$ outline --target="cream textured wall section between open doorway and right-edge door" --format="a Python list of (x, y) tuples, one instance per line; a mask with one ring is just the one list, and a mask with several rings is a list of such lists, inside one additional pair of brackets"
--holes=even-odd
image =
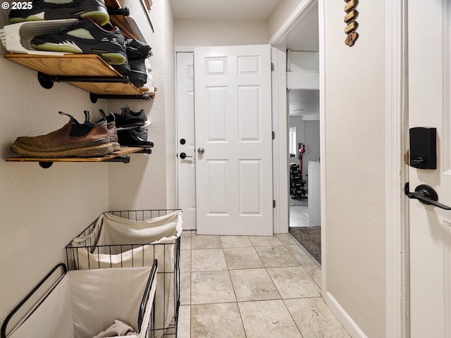
[(343, 2), (323, 6), (327, 290), (367, 337), (385, 337), (385, 2), (359, 2), (352, 47)]

